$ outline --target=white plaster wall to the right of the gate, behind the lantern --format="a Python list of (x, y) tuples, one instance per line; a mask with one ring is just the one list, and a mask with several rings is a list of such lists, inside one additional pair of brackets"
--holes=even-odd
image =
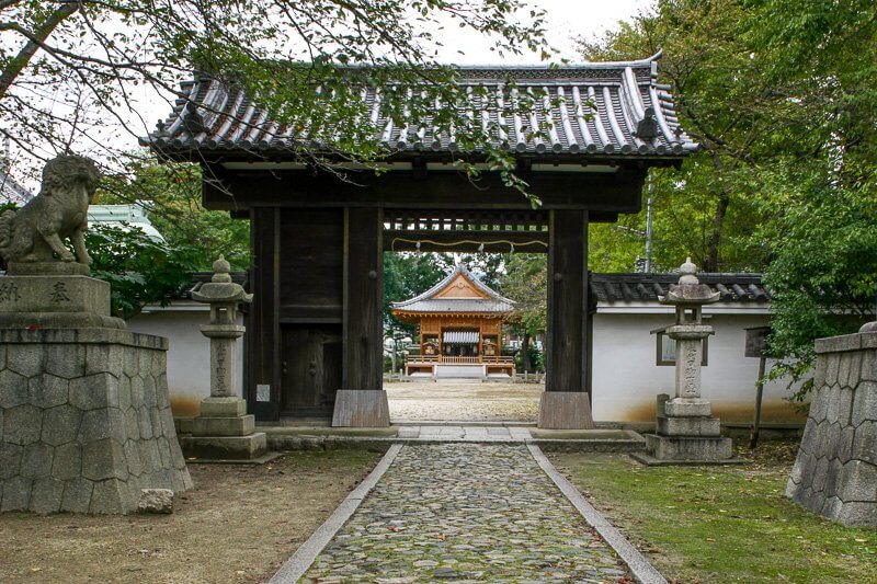
[[(653, 422), (656, 396), (674, 394), (674, 367), (656, 364), (657, 339), (649, 331), (672, 324), (672, 308), (649, 308), (594, 316), (593, 412), (601, 422)], [(725, 313), (716, 313), (725, 312)], [(730, 312), (730, 313), (728, 313)], [(765, 327), (767, 313), (745, 313), (732, 308), (705, 308), (706, 322), (715, 328), (708, 342), (708, 362), (703, 368), (704, 397), (713, 402), (714, 415), (724, 422), (750, 422), (754, 412), (759, 359), (743, 356), (745, 330)], [(771, 362), (767, 362), (770, 369)], [(785, 381), (764, 388), (762, 421), (804, 420), (785, 400)]]

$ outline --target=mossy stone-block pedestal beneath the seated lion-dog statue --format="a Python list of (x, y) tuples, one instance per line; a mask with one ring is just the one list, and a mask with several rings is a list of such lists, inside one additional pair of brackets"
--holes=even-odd
[(192, 488), (168, 341), (130, 333), (109, 311), (104, 282), (0, 277), (2, 511), (124, 514), (143, 489)]

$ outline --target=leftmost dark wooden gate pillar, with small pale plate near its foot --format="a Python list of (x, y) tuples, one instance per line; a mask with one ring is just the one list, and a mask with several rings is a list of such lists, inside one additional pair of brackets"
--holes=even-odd
[(246, 334), (244, 397), (248, 411), (255, 414), (257, 420), (280, 419), (280, 222), (281, 214), (276, 208), (253, 208), (250, 211), (253, 304)]

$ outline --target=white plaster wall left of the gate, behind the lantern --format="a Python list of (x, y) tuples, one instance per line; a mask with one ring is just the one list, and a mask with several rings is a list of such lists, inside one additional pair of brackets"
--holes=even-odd
[[(209, 310), (196, 302), (175, 302), (166, 308), (147, 307), (128, 320), (133, 332), (168, 337), (168, 388), (174, 415), (197, 415), (201, 400), (210, 394), (210, 345), (200, 325), (209, 320)], [(243, 319), (238, 314), (238, 324)], [(243, 386), (243, 341), (235, 352), (235, 391)]]

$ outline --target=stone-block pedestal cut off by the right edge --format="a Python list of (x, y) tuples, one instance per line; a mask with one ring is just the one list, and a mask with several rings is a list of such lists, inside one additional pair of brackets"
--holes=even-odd
[(877, 528), (877, 325), (816, 343), (810, 413), (786, 496)]

